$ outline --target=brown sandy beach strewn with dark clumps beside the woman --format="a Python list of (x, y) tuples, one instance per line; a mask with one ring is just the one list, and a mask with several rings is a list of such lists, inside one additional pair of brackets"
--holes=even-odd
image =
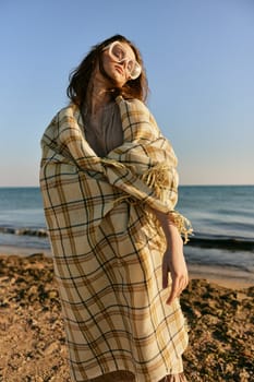
[[(33, 249), (0, 251), (0, 381), (70, 382), (52, 260)], [(253, 381), (253, 280), (193, 264), (189, 270), (181, 296), (190, 329), (188, 380)]]

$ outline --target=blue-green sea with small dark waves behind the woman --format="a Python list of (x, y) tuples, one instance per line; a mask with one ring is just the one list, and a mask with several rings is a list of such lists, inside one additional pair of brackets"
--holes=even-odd
[[(177, 210), (193, 225), (190, 264), (254, 272), (254, 186), (182, 186)], [(50, 251), (39, 188), (0, 188), (1, 247)]]

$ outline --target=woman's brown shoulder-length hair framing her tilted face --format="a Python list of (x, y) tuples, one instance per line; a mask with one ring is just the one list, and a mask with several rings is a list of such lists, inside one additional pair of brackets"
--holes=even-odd
[(121, 94), (124, 98), (137, 98), (143, 102), (146, 100), (148, 93), (148, 83), (145, 74), (145, 69), (143, 67), (141, 52), (124, 36), (114, 35), (92, 47), (90, 51), (83, 59), (80, 65), (71, 72), (69, 77), (70, 84), (66, 88), (66, 95), (77, 106), (82, 106), (84, 103), (86, 103), (93, 72), (97, 63), (100, 63), (104, 48), (113, 41), (121, 41), (130, 45), (135, 53), (137, 62), (142, 65), (142, 73), (136, 80), (129, 80), (121, 88), (113, 87), (111, 89), (112, 96), (116, 97), (117, 95)]

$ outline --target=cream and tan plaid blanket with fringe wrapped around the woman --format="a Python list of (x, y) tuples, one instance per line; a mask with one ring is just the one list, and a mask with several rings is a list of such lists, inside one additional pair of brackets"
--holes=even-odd
[(157, 382), (182, 371), (188, 344), (179, 301), (165, 303), (166, 239), (152, 213), (173, 212), (177, 158), (143, 103), (117, 103), (123, 144), (105, 158), (76, 106), (57, 114), (41, 140), (40, 188), (73, 381), (129, 370)]

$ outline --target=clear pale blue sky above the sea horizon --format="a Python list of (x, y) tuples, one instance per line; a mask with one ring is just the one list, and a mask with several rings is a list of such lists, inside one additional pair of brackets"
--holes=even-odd
[(1, 0), (0, 186), (38, 186), (69, 73), (116, 33), (142, 51), (180, 183), (254, 184), (253, 0)]

